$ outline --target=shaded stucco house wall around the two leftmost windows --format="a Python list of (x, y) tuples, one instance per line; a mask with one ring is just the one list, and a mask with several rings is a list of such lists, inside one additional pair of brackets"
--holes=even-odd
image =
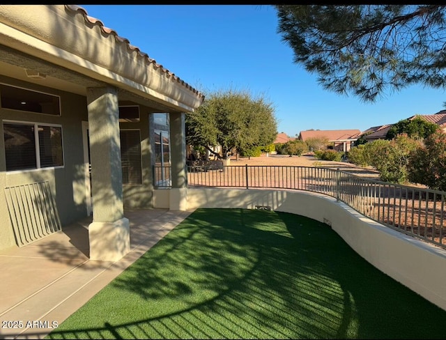
[[(27, 111), (0, 108), (0, 249), (15, 245), (13, 228), (10, 223), (5, 188), (30, 183), (48, 181), (56, 201), (61, 224), (70, 224), (86, 216), (86, 190), (84, 172), (84, 153), (82, 144), (82, 121), (87, 120), (86, 98), (37, 84), (22, 82), (3, 77), (0, 82), (20, 86), (30, 90), (59, 95), (61, 115), (52, 116)], [(5, 146), (3, 139), (3, 121), (23, 121), (33, 123), (57, 124), (62, 127), (63, 167), (6, 171)], [(4, 218), (3, 218), (4, 217)]]

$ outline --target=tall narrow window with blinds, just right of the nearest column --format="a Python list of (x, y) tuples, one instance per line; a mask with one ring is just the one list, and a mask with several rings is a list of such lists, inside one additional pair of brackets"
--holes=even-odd
[(123, 184), (141, 185), (141, 136), (139, 130), (121, 130)]

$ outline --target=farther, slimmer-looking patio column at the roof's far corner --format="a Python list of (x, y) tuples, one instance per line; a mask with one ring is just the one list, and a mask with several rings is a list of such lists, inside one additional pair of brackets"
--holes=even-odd
[(169, 113), (171, 143), (170, 210), (187, 210), (185, 113)]

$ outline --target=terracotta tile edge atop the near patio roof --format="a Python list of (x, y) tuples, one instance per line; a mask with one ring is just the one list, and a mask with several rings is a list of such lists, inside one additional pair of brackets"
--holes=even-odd
[(88, 23), (90, 25), (93, 24), (93, 25), (100, 26), (101, 31), (103, 33), (105, 33), (107, 36), (113, 35), (114, 38), (118, 42), (125, 42), (129, 52), (137, 52), (139, 54), (139, 56), (145, 57), (147, 63), (152, 63), (154, 68), (161, 68), (162, 72), (166, 73), (167, 77), (172, 77), (172, 79), (174, 79), (176, 82), (189, 88), (192, 92), (197, 93), (197, 95), (199, 95), (200, 97), (204, 97), (203, 93), (200, 93), (199, 91), (197, 91), (197, 89), (193, 88), (192, 86), (190, 86), (189, 84), (184, 82), (182, 79), (177, 77), (173, 72), (170, 72), (166, 68), (163, 68), (162, 65), (160, 65), (159, 63), (157, 63), (155, 61), (155, 59), (152, 59), (151, 57), (148, 56), (148, 54), (141, 52), (141, 50), (138, 47), (131, 45), (130, 41), (127, 38), (118, 36), (118, 33), (116, 31), (114, 31), (114, 29), (109, 29), (108, 27), (104, 26), (102, 21), (100, 21), (99, 19), (89, 16), (89, 14), (85, 10), (85, 8), (82, 8), (81, 6), (77, 6), (77, 5), (65, 5), (65, 8), (72, 13), (74, 13), (74, 12), (82, 13), (84, 15), (84, 19), (85, 19), (86, 23)]

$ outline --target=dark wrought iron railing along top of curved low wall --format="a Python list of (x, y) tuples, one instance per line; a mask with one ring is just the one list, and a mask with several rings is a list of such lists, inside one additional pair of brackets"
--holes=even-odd
[[(170, 167), (153, 169), (155, 187), (170, 187)], [(164, 176), (164, 180), (160, 177)], [(339, 169), (291, 166), (187, 167), (190, 187), (305, 190), (326, 194), (394, 230), (446, 249), (446, 192), (363, 178)]]

